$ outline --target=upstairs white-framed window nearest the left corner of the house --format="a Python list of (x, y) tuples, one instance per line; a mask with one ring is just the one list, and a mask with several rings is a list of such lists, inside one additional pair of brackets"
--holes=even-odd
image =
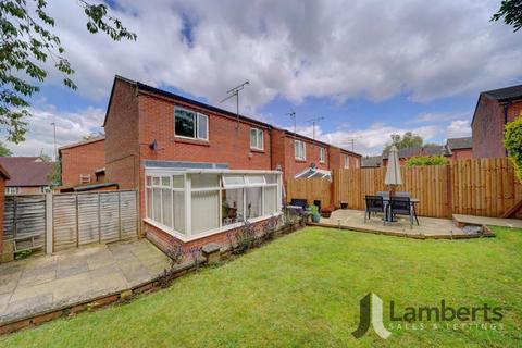
[(178, 137), (209, 139), (209, 116), (191, 110), (174, 109), (174, 127)]

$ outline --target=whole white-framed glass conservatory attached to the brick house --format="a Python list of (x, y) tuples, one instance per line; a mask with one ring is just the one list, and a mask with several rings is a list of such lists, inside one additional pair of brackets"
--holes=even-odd
[(146, 222), (188, 241), (282, 211), (279, 171), (147, 167)]

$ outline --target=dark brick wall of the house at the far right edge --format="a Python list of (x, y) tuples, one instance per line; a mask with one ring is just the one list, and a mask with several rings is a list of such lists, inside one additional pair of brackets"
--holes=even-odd
[[(482, 96), (472, 124), (473, 158), (506, 157), (504, 147), (505, 111), (496, 100)], [(508, 122), (522, 111), (522, 101), (508, 105)]]

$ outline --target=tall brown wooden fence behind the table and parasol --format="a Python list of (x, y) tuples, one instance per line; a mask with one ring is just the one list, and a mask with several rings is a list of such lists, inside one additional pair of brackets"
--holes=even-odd
[[(307, 198), (309, 202), (320, 199), (323, 207), (338, 207), (343, 201), (349, 209), (362, 210), (365, 195), (387, 190), (385, 173), (385, 167), (348, 169), (334, 170), (332, 183), (326, 179), (289, 179), (287, 198)], [(401, 174), (403, 185), (397, 190), (409, 191), (418, 198), (417, 212), (423, 216), (501, 216), (522, 199), (522, 184), (507, 158), (401, 167)], [(522, 212), (517, 216), (522, 217)]]

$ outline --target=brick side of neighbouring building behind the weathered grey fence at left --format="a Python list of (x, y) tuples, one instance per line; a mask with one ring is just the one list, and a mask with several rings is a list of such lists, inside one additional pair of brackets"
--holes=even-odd
[(62, 186), (104, 182), (104, 137), (63, 146), (58, 149), (58, 153), (62, 163)]

